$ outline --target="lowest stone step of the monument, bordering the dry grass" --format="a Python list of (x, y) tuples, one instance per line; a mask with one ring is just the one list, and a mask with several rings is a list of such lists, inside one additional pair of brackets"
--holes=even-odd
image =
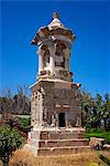
[(72, 155), (90, 151), (90, 146), (66, 146), (66, 147), (41, 147), (37, 151), (38, 156), (56, 156), (56, 155)]

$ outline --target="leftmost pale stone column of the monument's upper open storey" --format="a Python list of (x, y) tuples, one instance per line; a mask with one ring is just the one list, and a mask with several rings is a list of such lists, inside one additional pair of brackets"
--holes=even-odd
[(44, 66), (43, 66), (43, 56), (44, 56), (44, 50), (38, 49), (37, 53), (38, 53), (38, 74), (41, 74), (41, 71), (43, 71)]

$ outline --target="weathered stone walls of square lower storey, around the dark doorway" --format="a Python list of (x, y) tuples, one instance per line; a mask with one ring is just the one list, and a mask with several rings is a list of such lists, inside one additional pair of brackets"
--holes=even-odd
[(32, 87), (32, 125), (57, 126), (65, 113), (67, 126), (81, 125), (78, 89), (70, 82), (41, 81)]

